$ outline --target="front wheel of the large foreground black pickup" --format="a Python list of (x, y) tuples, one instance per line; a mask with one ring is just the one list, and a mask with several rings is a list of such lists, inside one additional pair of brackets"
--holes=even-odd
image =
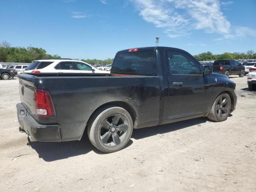
[(207, 118), (216, 122), (225, 121), (230, 114), (230, 110), (230, 96), (226, 93), (220, 94), (212, 104), (212, 108), (210, 109)]

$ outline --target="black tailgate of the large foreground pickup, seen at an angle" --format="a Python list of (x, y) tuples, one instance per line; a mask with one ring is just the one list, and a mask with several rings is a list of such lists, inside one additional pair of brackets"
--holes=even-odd
[(28, 75), (28, 74), (19, 74), (20, 101), (31, 115), (35, 114), (35, 108), (34, 108), (35, 86), (36, 86), (35, 76)]

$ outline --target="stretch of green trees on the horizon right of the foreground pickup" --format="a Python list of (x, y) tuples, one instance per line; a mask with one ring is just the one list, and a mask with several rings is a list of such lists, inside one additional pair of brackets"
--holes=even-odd
[(256, 59), (256, 52), (250, 50), (246, 53), (229, 53), (225, 52), (223, 54), (212, 54), (212, 52), (204, 52), (194, 56), (198, 61), (212, 61), (212, 60), (222, 60), (222, 59)]

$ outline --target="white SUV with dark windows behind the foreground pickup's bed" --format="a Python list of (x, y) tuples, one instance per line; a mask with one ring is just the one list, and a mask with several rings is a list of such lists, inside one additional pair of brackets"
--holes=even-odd
[(36, 60), (24, 73), (109, 73), (101, 71), (86, 62), (71, 59)]

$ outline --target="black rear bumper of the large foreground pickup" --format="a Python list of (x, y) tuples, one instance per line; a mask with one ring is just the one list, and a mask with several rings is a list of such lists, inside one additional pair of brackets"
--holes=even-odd
[(20, 128), (31, 141), (60, 142), (60, 126), (39, 124), (21, 103), (16, 105)]

